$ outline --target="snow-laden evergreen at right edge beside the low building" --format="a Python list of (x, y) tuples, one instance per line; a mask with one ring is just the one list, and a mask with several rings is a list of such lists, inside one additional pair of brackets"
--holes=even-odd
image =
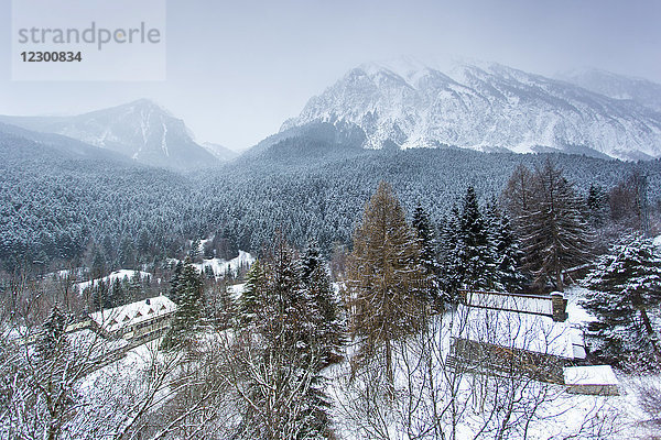
[(588, 327), (594, 353), (619, 364), (661, 369), (661, 254), (652, 240), (633, 235), (597, 260), (584, 284), (583, 306), (598, 319)]

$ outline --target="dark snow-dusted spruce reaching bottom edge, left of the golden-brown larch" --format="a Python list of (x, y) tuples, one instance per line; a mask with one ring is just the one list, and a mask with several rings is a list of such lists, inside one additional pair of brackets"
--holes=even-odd
[[(314, 284), (323, 267), (310, 274)], [(269, 264), (253, 265), (249, 273), (249, 296), (242, 302), (252, 326), (240, 328), (245, 338), (259, 344), (245, 385), (246, 431), (253, 438), (326, 438), (329, 400), (325, 395), (325, 349), (322, 323), (314, 295), (306, 293), (302, 264), (295, 251), (279, 237)], [(297, 432), (289, 437), (284, 432)]]

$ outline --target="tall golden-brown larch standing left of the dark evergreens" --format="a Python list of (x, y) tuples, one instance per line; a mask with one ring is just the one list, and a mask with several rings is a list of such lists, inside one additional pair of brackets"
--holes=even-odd
[(388, 184), (381, 182), (354, 233), (347, 288), (353, 311), (350, 334), (360, 338), (353, 359), (360, 366), (382, 350), (386, 377), (393, 391), (392, 341), (422, 324), (414, 294), (425, 280), (415, 233)]

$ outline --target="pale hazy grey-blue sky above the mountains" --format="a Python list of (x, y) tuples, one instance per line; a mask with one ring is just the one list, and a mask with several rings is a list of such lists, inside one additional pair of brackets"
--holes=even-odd
[(661, 82), (657, 0), (171, 0), (167, 80), (154, 82), (11, 81), (10, 1), (0, 2), (0, 113), (72, 114), (150, 98), (198, 142), (236, 150), (278, 131), (351, 67), (401, 55), (545, 75), (592, 66)]

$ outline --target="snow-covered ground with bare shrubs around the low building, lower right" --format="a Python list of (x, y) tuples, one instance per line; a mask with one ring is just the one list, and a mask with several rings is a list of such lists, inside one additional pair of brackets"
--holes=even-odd
[[(587, 322), (595, 320), (579, 304), (586, 293), (587, 289), (583, 287), (573, 287), (565, 293), (568, 299), (568, 319), (563, 322), (564, 330), (579, 331)], [(479, 326), (475, 321), (476, 317), (479, 317), (474, 315), (466, 317), (468, 326), (459, 326), (459, 328), (462, 331), (470, 332), (470, 327)], [(453, 319), (456, 319), (456, 316), (444, 317), (445, 321)], [(494, 328), (491, 323), (487, 327)], [(326, 370), (325, 376), (328, 378), (326, 391), (334, 404), (332, 414), (338, 438), (362, 439), (366, 436), (390, 439), (412, 438), (412, 433), (430, 428), (432, 420), (438, 417), (434, 415), (433, 402), (438, 403), (436, 409), (449, 410), (447, 405), (453, 394), (457, 409), (454, 438), (473, 439), (483, 429), (478, 438), (495, 437), (495, 429), (498, 429), (502, 418), (499, 418), (501, 414), (492, 411), (494, 400), (490, 399), (494, 389), (490, 391), (491, 397), (485, 393), (488, 388), (488, 385), (485, 385), (488, 383), (485, 381), (486, 375), (466, 373), (458, 378), (458, 382), (453, 383), (452, 375), (447, 374), (452, 369), (445, 364), (444, 359), (449, 352), (449, 341), (453, 332), (456, 331), (456, 322), (449, 326), (447, 322), (433, 324), (433, 331), (435, 336), (431, 340), (435, 341), (436, 345), (422, 344), (420, 337), (415, 336), (407, 343), (393, 346), (397, 397), (388, 405), (368, 407), (366, 397), (369, 396), (365, 393), (366, 387), (362, 386), (369, 381), (382, 385), (382, 382), (379, 382), (382, 377), (375, 380), (372, 376), (361, 380), (357, 376), (357, 380), (351, 382), (349, 381), (351, 365), (346, 361)], [(489, 338), (489, 334), (485, 337)], [(513, 338), (512, 342), (516, 345), (517, 338)], [(349, 345), (347, 358), (350, 358), (355, 350), (355, 346)], [(431, 363), (420, 354), (425, 352), (431, 353)], [(430, 365), (432, 370), (429, 370)], [(539, 440), (652, 438), (650, 436), (654, 428), (644, 424), (649, 416), (642, 411), (638, 402), (638, 387), (641, 384), (657, 383), (660, 386), (658, 389), (661, 389), (661, 376), (632, 377), (622, 372), (615, 373), (619, 383), (620, 395), (618, 396), (570, 394), (565, 385), (538, 382), (528, 384), (527, 380), (521, 377), (520, 384), (513, 386), (510, 384), (511, 388), (507, 388), (510, 392), (513, 389), (514, 393), (513, 418), (524, 417), (525, 411), (533, 408), (537, 415), (529, 425), (512, 429), (506, 438)], [(615, 382), (611, 376), (609, 381), (609, 383)], [(430, 385), (432, 383), (433, 386)], [(503, 395), (508, 391), (500, 388), (500, 394)], [(490, 417), (494, 418), (489, 419)], [(444, 435), (447, 436), (446, 438), (452, 438), (452, 418), (448, 418), (445, 413), (442, 420)], [(437, 437), (427, 431), (427, 435), (415, 438)]]

